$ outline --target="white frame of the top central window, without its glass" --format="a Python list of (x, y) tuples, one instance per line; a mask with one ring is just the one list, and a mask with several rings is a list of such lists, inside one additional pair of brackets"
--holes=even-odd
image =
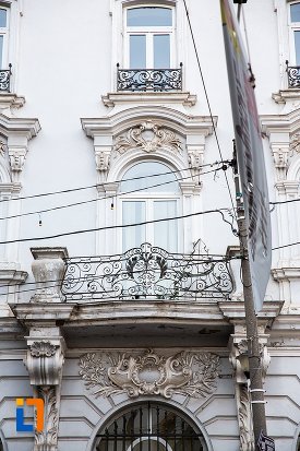
[[(127, 15), (128, 11), (136, 8), (164, 8), (171, 10), (172, 12), (172, 26), (128, 26)], [(176, 68), (176, 39), (175, 39), (175, 8), (168, 4), (153, 4), (153, 3), (140, 3), (133, 7), (124, 8), (123, 14), (123, 29), (124, 29), (124, 68), (130, 68), (130, 36), (145, 35), (146, 36), (146, 69), (154, 69), (154, 35), (168, 35), (170, 36), (170, 68)], [(143, 69), (143, 68), (133, 68)]]

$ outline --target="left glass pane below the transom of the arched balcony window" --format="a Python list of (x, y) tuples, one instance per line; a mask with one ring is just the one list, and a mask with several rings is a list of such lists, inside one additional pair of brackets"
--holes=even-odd
[[(145, 202), (142, 201), (123, 201), (122, 202), (122, 224), (142, 223), (146, 221)], [(123, 232), (123, 251), (131, 248), (140, 247), (146, 240), (146, 226), (124, 227)]]

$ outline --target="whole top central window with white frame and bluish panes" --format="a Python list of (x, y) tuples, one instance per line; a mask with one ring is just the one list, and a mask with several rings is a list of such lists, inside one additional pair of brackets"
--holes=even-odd
[(142, 5), (125, 9), (125, 66), (169, 69), (173, 61), (173, 9)]

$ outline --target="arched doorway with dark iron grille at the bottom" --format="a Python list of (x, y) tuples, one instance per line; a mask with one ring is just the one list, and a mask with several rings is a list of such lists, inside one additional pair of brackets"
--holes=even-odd
[(147, 402), (116, 415), (97, 434), (94, 451), (207, 451), (207, 447), (177, 410)]

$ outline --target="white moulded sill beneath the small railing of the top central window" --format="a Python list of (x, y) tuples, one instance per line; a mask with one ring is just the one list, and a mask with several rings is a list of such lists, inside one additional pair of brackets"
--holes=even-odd
[[(299, 91), (300, 93), (300, 91)], [(161, 104), (181, 104), (183, 106), (194, 106), (196, 103), (196, 95), (189, 92), (119, 92), (108, 93), (101, 96), (103, 103), (106, 107), (115, 107), (128, 103), (161, 105)]]

